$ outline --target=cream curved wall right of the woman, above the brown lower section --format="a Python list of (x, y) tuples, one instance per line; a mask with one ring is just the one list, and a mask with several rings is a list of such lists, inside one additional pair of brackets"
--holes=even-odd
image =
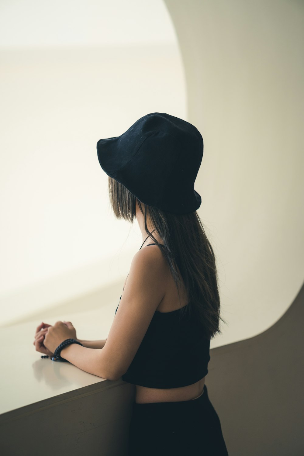
[(201, 131), (198, 213), (217, 256), (222, 337), (255, 336), (304, 278), (304, 3), (165, 0)]

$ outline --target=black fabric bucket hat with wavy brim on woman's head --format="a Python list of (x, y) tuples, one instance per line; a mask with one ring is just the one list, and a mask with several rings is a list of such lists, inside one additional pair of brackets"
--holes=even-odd
[(201, 206), (194, 181), (204, 143), (196, 127), (166, 113), (138, 119), (120, 136), (97, 143), (100, 166), (139, 201), (186, 214)]

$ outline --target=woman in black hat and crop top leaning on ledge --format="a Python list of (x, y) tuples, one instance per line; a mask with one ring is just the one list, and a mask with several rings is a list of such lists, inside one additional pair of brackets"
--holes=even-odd
[[(122, 376), (136, 385), (130, 456), (227, 455), (205, 385), (210, 340), (221, 334), (222, 318), (215, 256), (196, 212), (201, 134), (185, 120), (152, 113), (123, 135), (99, 140), (97, 150), (113, 212), (131, 223), (136, 218), (143, 243), (108, 338), (80, 342), (103, 348), (103, 378)], [(83, 369), (77, 358), (83, 349), (72, 345), (78, 341), (75, 328), (70, 322), (56, 325), (38, 326), (36, 349), (52, 354), (72, 338), (61, 357)]]

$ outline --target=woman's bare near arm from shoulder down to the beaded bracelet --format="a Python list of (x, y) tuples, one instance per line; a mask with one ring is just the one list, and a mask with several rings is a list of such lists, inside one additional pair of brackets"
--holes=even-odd
[[(106, 380), (119, 380), (132, 363), (165, 295), (167, 272), (166, 260), (159, 249), (137, 252), (108, 338), (82, 341), (87, 347), (70, 344), (62, 348), (60, 356), (85, 372)], [(103, 342), (103, 348), (88, 347), (92, 343), (101, 346)]]

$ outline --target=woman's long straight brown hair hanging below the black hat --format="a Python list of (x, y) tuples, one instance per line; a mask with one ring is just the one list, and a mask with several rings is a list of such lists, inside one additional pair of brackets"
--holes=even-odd
[(174, 214), (164, 212), (140, 202), (123, 184), (108, 176), (110, 203), (116, 218), (123, 218), (133, 223), (136, 218), (136, 202), (144, 215), (146, 233), (159, 245), (147, 227), (147, 218), (163, 240), (159, 245), (164, 254), (175, 281), (178, 294), (181, 284), (176, 264), (180, 269), (189, 303), (180, 309), (180, 318), (193, 312), (201, 322), (206, 337), (212, 339), (222, 334), (219, 323), (220, 296), (216, 260), (211, 244), (206, 236), (197, 212)]

